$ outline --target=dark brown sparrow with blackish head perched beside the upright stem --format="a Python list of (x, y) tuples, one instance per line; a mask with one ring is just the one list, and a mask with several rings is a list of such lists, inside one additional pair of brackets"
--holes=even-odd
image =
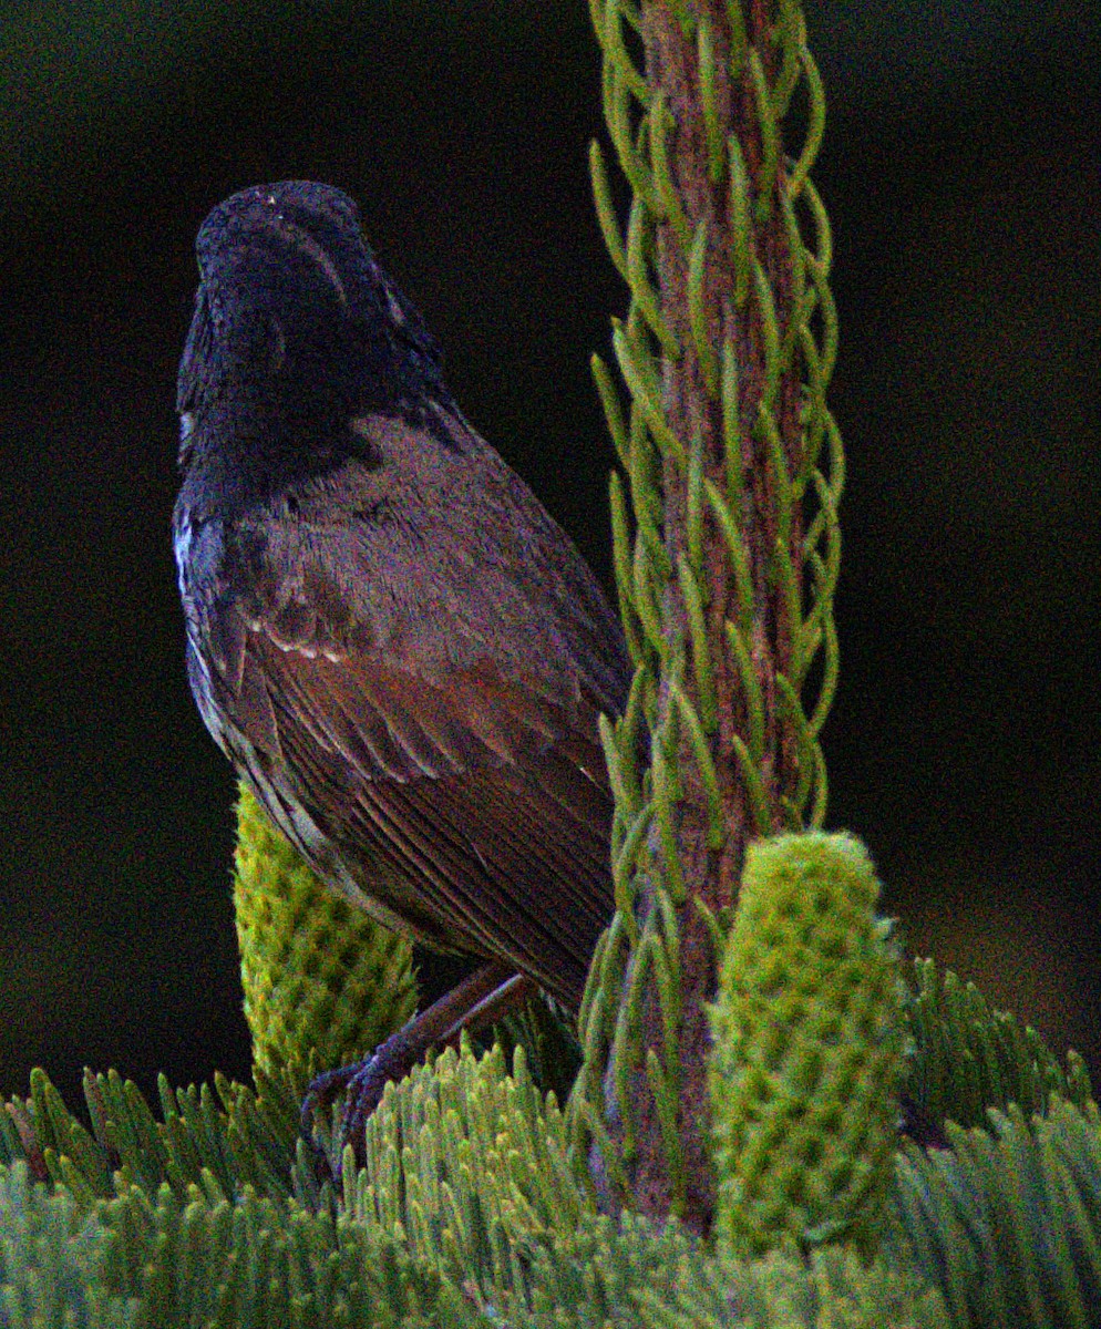
[(327, 882), (487, 962), (383, 1045), (370, 1111), (509, 979), (577, 1011), (613, 909), (597, 715), (628, 658), (344, 194), (243, 190), (197, 251), (174, 540), (202, 718)]

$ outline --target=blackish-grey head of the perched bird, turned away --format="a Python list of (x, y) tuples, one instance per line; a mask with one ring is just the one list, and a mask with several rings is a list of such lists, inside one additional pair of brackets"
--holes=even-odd
[(308, 397), (350, 413), (445, 399), (436, 343), (339, 189), (312, 181), (245, 189), (210, 213), (195, 250), (181, 413), (238, 393)]

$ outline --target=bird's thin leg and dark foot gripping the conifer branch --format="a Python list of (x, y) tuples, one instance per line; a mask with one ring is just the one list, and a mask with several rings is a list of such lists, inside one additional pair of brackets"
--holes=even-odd
[(521, 1006), (537, 990), (532, 978), (515, 973), (509, 965), (497, 961), (481, 965), (427, 1010), (414, 1015), (396, 1034), (391, 1034), (366, 1061), (324, 1071), (311, 1080), (302, 1103), (302, 1134), (315, 1143), (314, 1116), (318, 1108), (327, 1107), (338, 1094), (347, 1090), (339, 1152), (343, 1152), (346, 1144), (351, 1144), (356, 1162), (362, 1163), (367, 1118), (379, 1106), (390, 1080), (408, 1075), (429, 1047), (456, 1046), (464, 1030), (473, 1034), (485, 1029), (509, 1010)]

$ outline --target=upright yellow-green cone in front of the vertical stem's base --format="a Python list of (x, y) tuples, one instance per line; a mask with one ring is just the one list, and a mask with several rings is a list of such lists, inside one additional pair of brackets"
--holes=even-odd
[(879, 881), (848, 835), (751, 844), (711, 1007), (717, 1232), (876, 1245), (903, 1063), (903, 985)]

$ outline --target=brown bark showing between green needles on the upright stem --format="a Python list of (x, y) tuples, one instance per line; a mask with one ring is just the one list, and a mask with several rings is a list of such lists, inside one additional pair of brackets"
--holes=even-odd
[[(747, 64), (737, 81), (727, 76), (730, 52), (730, 25), (727, 0), (690, 0), (694, 17), (710, 24), (715, 43), (717, 86), (715, 101), (719, 122), (726, 133), (734, 133), (742, 146), (750, 190), (754, 201), (759, 193), (763, 167), (762, 130), (758, 105)], [(775, 76), (771, 27), (775, 5), (769, 0), (743, 0), (746, 35), (765, 65), (766, 81)], [(695, 33), (686, 33), (664, 0), (644, 0), (642, 37), (646, 53), (648, 82), (652, 92), (661, 89), (665, 105), (672, 112), (673, 128), (669, 134), (669, 158), (673, 178), (689, 225), (695, 231), (706, 222), (709, 249), (705, 266), (705, 311), (717, 351), (723, 342), (735, 350), (739, 380), (739, 417), (742, 436), (742, 508), (737, 513), (750, 562), (753, 581), (751, 606), (739, 606), (730, 558), (723, 538), (710, 516), (703, 530), (702, 586), (707, 635), (715, 670), (718, 694), (718, 727), (710, 736), (711, 758), (715, 764), (722, 800), (725, 837), (722, 848), (707, 844), (709, 812), (706, 792), (686, 735), (681, 736), (677, 754), (679, 797), (675, 808), (675, 843), (687, 900), (677, 910), (679, 937), (679, 1075), (677, 1127), (685, 1156), (683, 1220), (699, 1232), (707, 1232), (714, 1211), (714, 1174), (709, 1156), (709, 1100), (706, 1061), (710, 1043), (706, 1009), (714, 999), (717, 985), (717, 957), (710, 936), (695, 901), (706, 905), (713, 914), (730, 906), (737, 896), (745, 847), (755, 833), (751, 807), (739, 775), (733, 739), (747, 739), (747, 708), (737, 668), (730, 661), (725, 641), (725, 623), (735, 619), (739, 609), (750, 609), (753, 633), (753, 663), (765, 700), (766, 732), (765, 756), (761, 775), (771, 812), (773, 829), (783, 824), (781, 796), (790, 793), (796, 776), (796, 735), (782, 719), (777, 672), (790, 675), (793, 627), (787, 621), (779, 594), (774, 565), (777, 540), (781, 534), (777, 505), (775, 474), (769, 449), (759, 428), (758, 408), (765, 392), (766, 360), (761, 308), (757, 296), (739, 308), (734, 290), (734, 242), (729, 211), (729, 185), (717, 185), (709, 171), (707, 140), (699, 92), (699, 68)], [(783, 165), (775, 173), (771, 187), (771, 207), (767, 219), (753, 225), (753, 250), (773, 292), (781, 334), (793, 316), (791, 311), (791, 255), (781, 209), (781, 190), (785, 187)], [(726, 492), (726, 457), (722, 435), (721, 404), (706, 387), (703, 369), (694, 350), (689, 318), (687, 268), (689, 256), (672, 222), (658, 225), (657, 276), (661, 310), (675, 335), (682, 354), (678, 359), (665, 359), (664, 408), (665, 417), (677, 437), (687, 445), (697, 435), (702, 440), (703, 474), (719, 492)], [(753, 284), (751, 284), (753, 291)], [(782, 375), (773, 413), (786, 456), (789, 473), (798, 470), (800, 459), (799, 379), (793, 356)], [(683, 469), (666, 460), (662, 476), (665, 502), (666, 548), (677, 566), (686, 550), (687, 486)], [(799, 571), (802, 529), (798, 513), (793, 517), (789, 550)], [(670, 581), (662, 606), (666, 633), (687, 641), (687, 617), (677, 578)], [(690, 653), (689, 653), (690, 657)], [(699, 708), (699, 690), (691, 667), (683, 680), (689, 699)], [(658, 710), (669, 704), (670, 679), (660, 684)], [(658, 856), (657, 844), (653, 847)], [(657, 908), (653, 881), (642, 880), (637, 898), (640, 924)], [(636, 1208), (661, 1216), (673, 1204), (673, 1183), (669, 1176), (668, 1154), (662, 1140), (654, 1098), (646, 1082), (646, 1051), (665, 1053), (665, 1019), (650, 973), (642, 999), (642, 1049), (632, 1055), (633, 1075), (629, 1083), (630, 1111), (634, 1122), (634, 1154), (628, 1159), (629, 1179)], [(609, 1078), (609, 1088), (612, 1079)], [(614, 1094), (608, 1094), (614, 1102)], [(609, 1122), (613, 1140), (622, 1142), (622, 1127)]]

